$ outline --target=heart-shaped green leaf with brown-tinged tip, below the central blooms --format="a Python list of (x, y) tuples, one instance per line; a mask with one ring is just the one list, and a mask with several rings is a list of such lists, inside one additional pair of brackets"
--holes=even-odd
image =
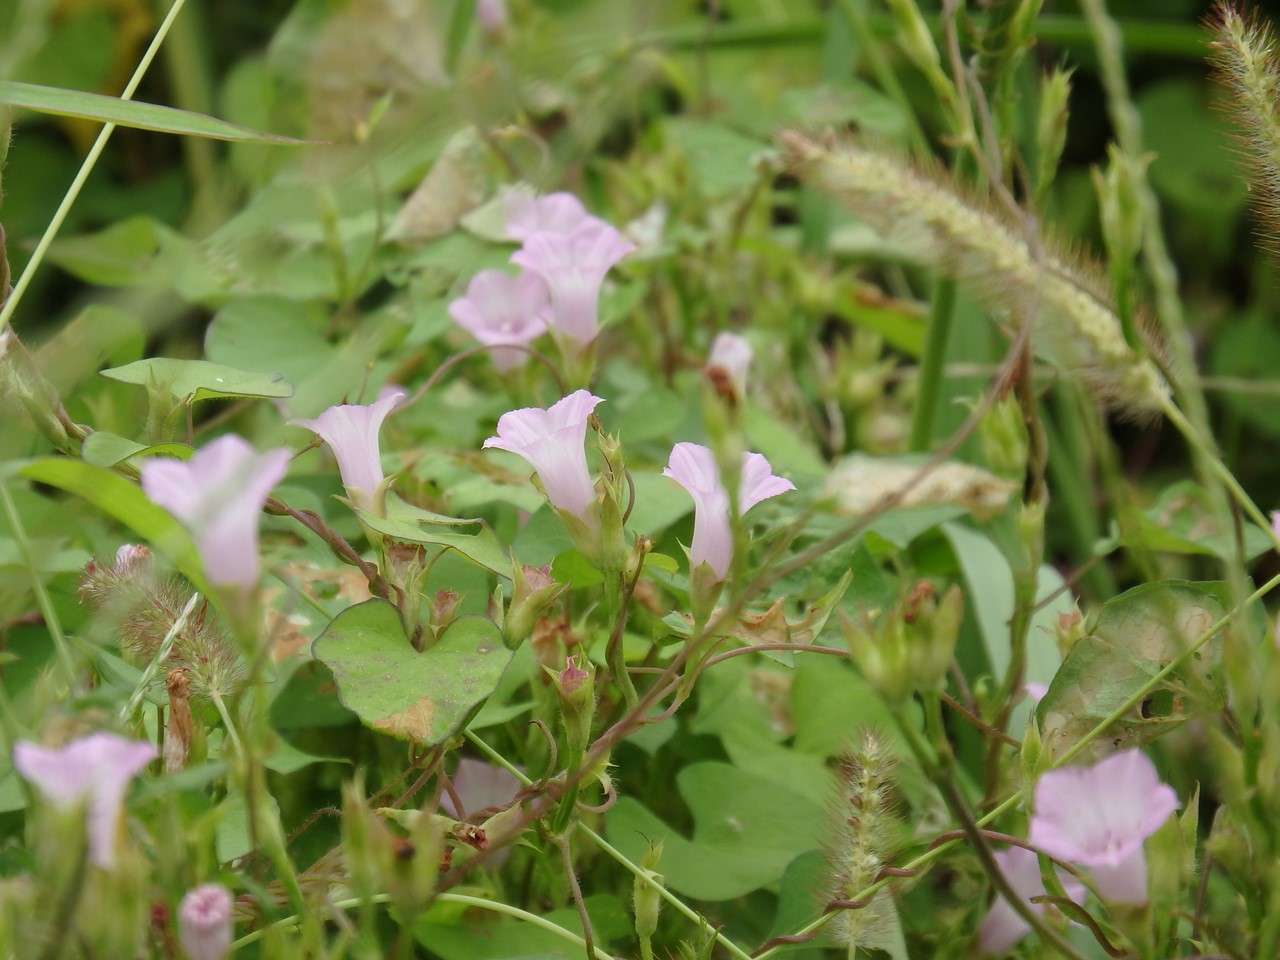
[(454, 621), (435, 646), (419, 653), (385, 600), (343, 611), (311, 649), (333, 671), (338, 699), (361, 723), (425, 745), (462, 728), (493, 694), (512, 655), (484, 617)]

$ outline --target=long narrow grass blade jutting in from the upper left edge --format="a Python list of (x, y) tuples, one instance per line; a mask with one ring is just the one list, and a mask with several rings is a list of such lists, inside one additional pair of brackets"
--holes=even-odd
[(210, 137), (212, 140), (236, 140), (247, 143), (314, 143), (316, 141), (293, 140), (274, 133), (251, 131), (237, 127), (204, 114), (189, 110), (175, 110), (172, 106), (146, 104), (137, 100), (86, 93), (79, 90), (45, 87), (38, 83), (0, 82), (0, 105), (19, 106), (56, 116), (78, 116), (82, 120), (115, 123), (120, 127), (133, 127), (140, 131), (159, 133), (178, 133), (188, 137)]

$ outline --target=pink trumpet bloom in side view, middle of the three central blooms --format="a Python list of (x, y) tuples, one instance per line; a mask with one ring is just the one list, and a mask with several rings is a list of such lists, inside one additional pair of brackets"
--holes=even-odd
[(524, 457), (538, 471), (553, 507), (590, 522), (595, 484), (586, 468), (586, 419), (603, 402), (575, 390), (545, 410), (513, 410), (498, 419), (498, 435), (484, 445)]

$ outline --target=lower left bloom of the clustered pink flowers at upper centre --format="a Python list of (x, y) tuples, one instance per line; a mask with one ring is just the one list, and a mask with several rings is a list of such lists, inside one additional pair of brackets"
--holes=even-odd
[(486, 347), (498, 370), (520, 366), (529, 355), (522, 349), (547, 333), (550, 302), (547, 284), (538, 274), (512, 276), (502, 270), (483, 270), (471, 278), (465, 296), (449, 303), (453, 321)]

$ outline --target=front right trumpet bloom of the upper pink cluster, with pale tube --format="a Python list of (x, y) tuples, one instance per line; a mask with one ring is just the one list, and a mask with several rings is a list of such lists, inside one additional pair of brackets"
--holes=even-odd
[(511, 262), (547, 282), (553, 332), (581, 348), (598, 333), (604, 275), (632, 250), (631, 241), (590, 216), (572, 233), (539, 232), (526, 237), (525, 246), (511, 255)]

